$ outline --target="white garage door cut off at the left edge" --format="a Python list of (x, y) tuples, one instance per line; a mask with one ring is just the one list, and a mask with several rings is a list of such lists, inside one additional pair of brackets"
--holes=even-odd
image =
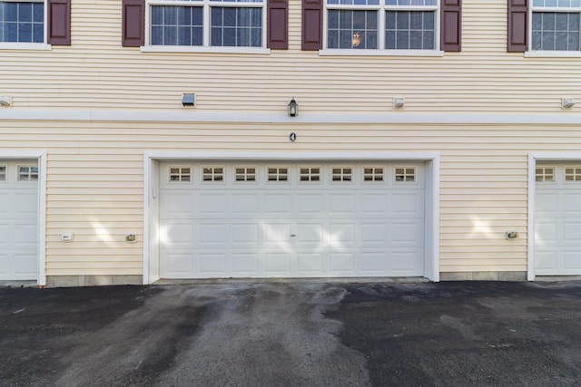
[(32, 280), (38, 265), (36, 161), (0, 160), (0, 280)]

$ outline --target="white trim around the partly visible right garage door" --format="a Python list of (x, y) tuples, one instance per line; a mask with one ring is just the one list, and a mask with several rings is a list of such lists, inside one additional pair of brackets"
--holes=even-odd
[(537, 161), (581, 161), (581, 152), (530, 152), (528, 154), (527, 280), (535, 280), (535, 199)]

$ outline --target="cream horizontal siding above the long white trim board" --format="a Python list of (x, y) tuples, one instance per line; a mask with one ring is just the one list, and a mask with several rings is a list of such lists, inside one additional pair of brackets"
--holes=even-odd
[(2, 92), (15, 107), (181, 110), (182, 92), (196, 92), (196, 111), (281, 112), (292, 96), (300, 111), (391, 111), (397, 95), (409, 114), (561, 112), (581, 86), (578, 58), (506, 52), (506, 0), (464, 2), (462, 52), (443, 57), (301, 52), (300, 1), (290, 3), (289, 50), (142, 53), (121, 46), (119, 2), (78, 0), (71, 46), (0, 50)]

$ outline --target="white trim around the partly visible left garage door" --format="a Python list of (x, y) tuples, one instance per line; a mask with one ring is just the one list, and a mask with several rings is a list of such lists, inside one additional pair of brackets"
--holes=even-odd
[(36, 285), (46, 285), (46, 152), (43, 150), (0, 150), (0, 160), (38, 160), (38, 274)]

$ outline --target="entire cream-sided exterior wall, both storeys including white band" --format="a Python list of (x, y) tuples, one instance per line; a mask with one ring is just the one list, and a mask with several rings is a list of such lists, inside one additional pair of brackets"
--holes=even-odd
[(0, 50), (0, 147), (46, 153), (46, 275), (142, 275), (151, 150), (437, 152), (439, 271), (526, 271), (528, 154), (581, 146), (581, 108), (560, 108), (580, 58), (506, 53), (506, 0), (462, 14), (462, 52), (442, 57), (301, 52), (294, 0), (290, 50), (144, 53), (121, 46), (121, 2), (75, 0), (72, 46)]

